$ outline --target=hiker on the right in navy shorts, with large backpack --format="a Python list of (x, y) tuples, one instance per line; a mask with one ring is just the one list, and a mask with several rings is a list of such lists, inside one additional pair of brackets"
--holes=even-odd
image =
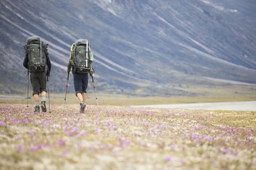
[(78, 39), (71, 46), (70, 50), (67, 73), (70, 73), (72, 67), (76, 96), (80, 101), (80, 113), (84, 113), (88, 73), (90, 76), (93, 76), (94, 73), (92, 68), (93, 55), (87, 39)]

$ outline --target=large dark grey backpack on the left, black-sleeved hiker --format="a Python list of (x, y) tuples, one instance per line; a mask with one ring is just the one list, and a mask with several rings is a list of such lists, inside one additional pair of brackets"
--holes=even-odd
[(47, 44), (44, 44), (40, 37), (31, 36), (27, 39), (24, 48), (28, 53), (29, 71), (45, 71)]

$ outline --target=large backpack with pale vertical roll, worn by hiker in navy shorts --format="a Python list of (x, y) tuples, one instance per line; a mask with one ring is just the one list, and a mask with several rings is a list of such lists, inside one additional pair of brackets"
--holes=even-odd
[(72, 45), (72, 55), (74, 61), (73, 73), (88, 73), (91, 69), (90, 56), (89, 56), (89, 43), (87, 39), (78, 39)]

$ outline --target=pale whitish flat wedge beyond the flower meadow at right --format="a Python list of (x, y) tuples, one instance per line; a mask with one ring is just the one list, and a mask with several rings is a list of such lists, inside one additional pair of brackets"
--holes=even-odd
[(256, 101), (216, 102), (216, 103), (186, 103), (186, 104), (154, 104), (138, 105), (134, 108), (182, 108), (189, 110), (232, 110), (256, 111)]

